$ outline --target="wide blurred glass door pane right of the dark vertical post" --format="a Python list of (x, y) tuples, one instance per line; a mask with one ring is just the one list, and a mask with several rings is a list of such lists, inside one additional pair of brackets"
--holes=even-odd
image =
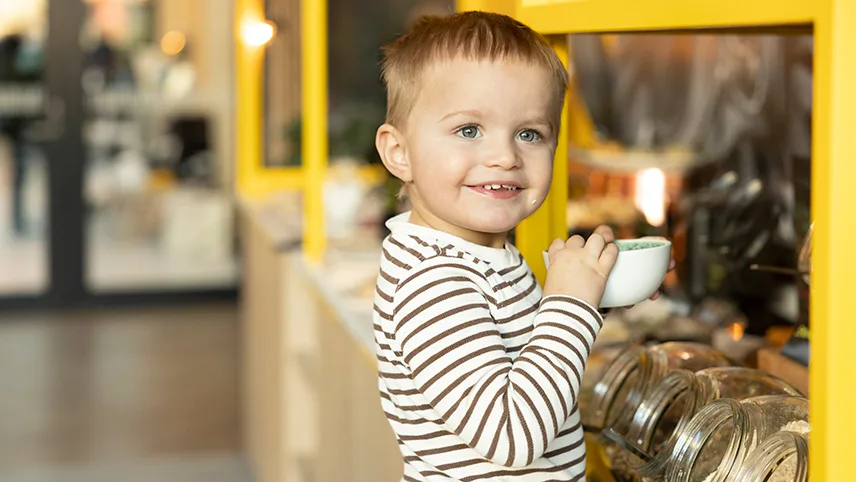
[(237, 284), (232, 3), (86, 2), (85, 285), (95, 295)]

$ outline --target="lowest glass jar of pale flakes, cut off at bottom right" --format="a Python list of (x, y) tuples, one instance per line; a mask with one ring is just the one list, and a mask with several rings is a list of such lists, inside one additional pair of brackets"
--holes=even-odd
[(746, 457), (734, 482), (808, 481), (808, 437), (800, 432), (773, 434)]

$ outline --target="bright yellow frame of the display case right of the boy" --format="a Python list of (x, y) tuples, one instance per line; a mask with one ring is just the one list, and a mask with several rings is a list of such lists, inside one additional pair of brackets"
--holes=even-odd
[[(856, 2), (519, 0), (516, 7), (517, 18), (556, 43), (568, 34), (591, 32), (812, 33), (810, 480), (846, 479), (847, 440), (856, 432), (856, 416), (847, 406), (847, 373), (854, 364), (847, 354), (856, 335), (847, 314), (856, 308), (856, 298), (846, 289), (856, 273), (856, 253), (847, 249), (856, 223), (846, 207), (856, 204), (856, 191), (847, 185), (856, 175), (851, 162), (856, 138), (849, 133), (856, 121)], [(559, 53), (567, 58), (566, 51)], [(560, 142), (561, 168), (568, 139)], [(565, 192), (552, 192), (546, 209), (566, 201)], [(537, 264), (541, 248), (528, 243), (542, 242), (556, 227), (542, 217), (523, 229), (526, 234), (518, 236), (521, 252)]]

